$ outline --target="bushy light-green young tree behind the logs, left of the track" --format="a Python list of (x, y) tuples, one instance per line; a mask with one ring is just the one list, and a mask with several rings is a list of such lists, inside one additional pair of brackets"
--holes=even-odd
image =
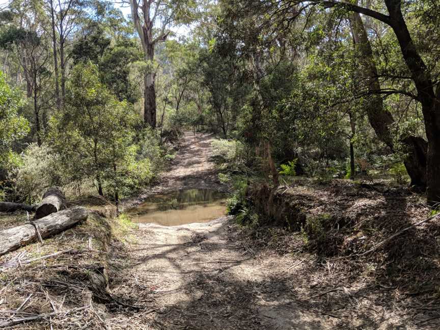
[(132, 185), (130, 170), (137, 169), (137, 181), (148, 180), (149, 163), (137, 164), (138, 148), (132, 146), (138, 121), (134, 109), (101, 83), (96, 65), (76, 65), (66, 106), (50, 121), (49, 139), (60, 154), (64, 180), (94, 179), (112, 193)]

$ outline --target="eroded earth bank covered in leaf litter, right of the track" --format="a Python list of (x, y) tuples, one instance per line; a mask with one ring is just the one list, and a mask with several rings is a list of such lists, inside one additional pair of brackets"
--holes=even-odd
[(248, 199), (266, 225), (239, 239), (253, 251), (293, 255), (291, 288), (310, 299), (306, 305), (340, 319), (341, 328), (438, 327), (440, 219), (410, 227), (430, 216), (423, 196), (389, 183), (299, 179), (252, 186)]

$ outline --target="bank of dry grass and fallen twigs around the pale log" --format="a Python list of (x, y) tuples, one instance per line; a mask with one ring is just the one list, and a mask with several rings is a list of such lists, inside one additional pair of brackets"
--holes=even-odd
[[(137, 308), (108, 290), (113, 250), (132, 225), (102, 198), (70, 204), (89, 208), (86, 222), (0, 257), (0, 327), (102, 329), (108, 310)], [(27, 221), (25, 212), (0, 214), (1, 229)]]

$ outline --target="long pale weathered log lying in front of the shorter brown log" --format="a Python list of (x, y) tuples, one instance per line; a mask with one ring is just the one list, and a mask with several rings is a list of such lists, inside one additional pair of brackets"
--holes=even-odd
[(0, 256), (38, 240), (38, 230), (45, 238), (71, 228), (87, 219), (89, 212), (81, 206), (72, 207), (41, 219), (0, 231)]

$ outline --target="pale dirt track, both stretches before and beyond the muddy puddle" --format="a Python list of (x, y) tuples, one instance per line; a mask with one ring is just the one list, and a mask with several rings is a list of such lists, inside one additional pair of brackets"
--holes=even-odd
[[(170, 189), (222, 189), (210, 161), (212, 140), (208, 134), (185, 134), (173, 169), (138, 202)], [(134, 300), (147, 301), (151, 308), (114, 314), (107, 318), (108, 325), (112, 329), (327, 328), (280, 297), (284, 288), (271, 279), (267, 264), (271, 261), (243, 249), (230, 231), (228, 217), (178, 227), (142, 226), (112, 291), (135, 295)]]

